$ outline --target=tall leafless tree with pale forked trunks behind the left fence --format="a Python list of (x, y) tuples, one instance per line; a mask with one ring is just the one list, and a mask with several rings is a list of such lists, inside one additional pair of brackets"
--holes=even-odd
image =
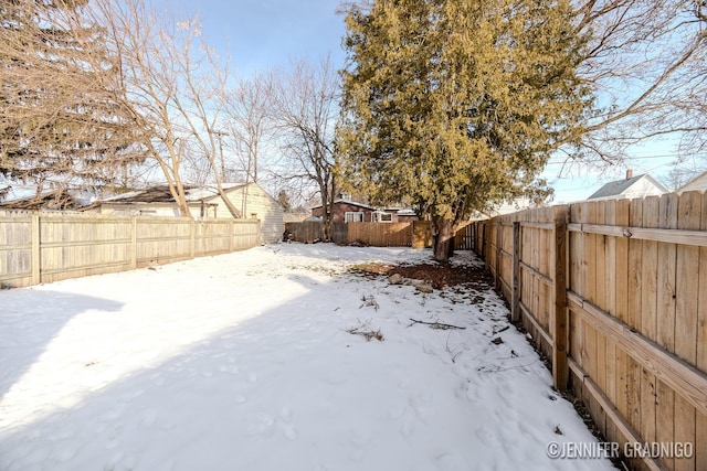
[(98, 0), (92, 12), (120, 69), (114, 99), (145, 136), (180, 214), (191, 216), (186, 183), (205, 167), (240, 217), (217, 164), (228, 67), (203, 41), (199, 20), (176, 20), (141, 0)]

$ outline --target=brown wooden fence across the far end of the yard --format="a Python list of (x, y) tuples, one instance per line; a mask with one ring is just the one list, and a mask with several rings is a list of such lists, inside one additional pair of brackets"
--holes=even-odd
[[(286, 223), (285, 232), (295, 242), (312, 244), (321, 240), (320, 222)], [(472, 226), (466, 225), (456, 232), (454, 248), (471, 250), (474, 234)], [(331, 238), (335, 244), (361, 244), (372, 247), (432, 247), (430, 223), (415, 221), (412, 223), (334, 223)]]

